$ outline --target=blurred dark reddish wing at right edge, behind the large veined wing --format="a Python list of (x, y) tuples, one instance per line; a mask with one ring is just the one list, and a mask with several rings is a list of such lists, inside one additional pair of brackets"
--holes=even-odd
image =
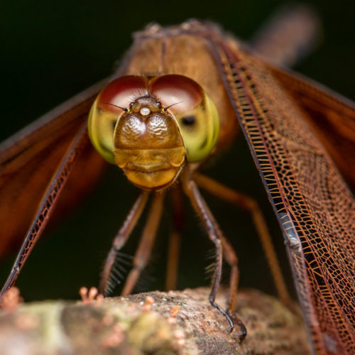
[(355, 188), (355, 106), (322, 85), (292, 72), (269, 67), (305, 111), (312, 129), (351, 187)]

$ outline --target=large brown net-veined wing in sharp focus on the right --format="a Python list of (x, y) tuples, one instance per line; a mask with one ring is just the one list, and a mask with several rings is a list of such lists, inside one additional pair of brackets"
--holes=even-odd
[(217, 37), (214, 47), (283, 229), (315, 353), (354, 354), (354, 197), (266, 65), (232, 41)]

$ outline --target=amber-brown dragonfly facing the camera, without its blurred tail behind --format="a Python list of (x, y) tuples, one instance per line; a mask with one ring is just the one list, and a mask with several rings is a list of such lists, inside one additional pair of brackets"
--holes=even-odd
[[(148, 262), (167, 192), (175, 202), (176, 244), (185, 192), (216, 250), (209, 300), (229, 323), (226, 330), (237, 324), (245, 337), (233, 312), (238, 258), (199, 187), (251, 212), (285, 302), (288, 293), (258, 206), (199, 171), (241, 131), (280, 222), (315, 353), (354, 352), (355, 202), (339, 173), (354, 183), (354, 113), (349, 100), (271, 64), (267, 51), (253, 52), (213, 23), (148, 26), (136, 33), (110, 80), (1, 145), (1, 240), (26, 234), (29, 226), (1, 296), (15, 283), (65, 188), (72, 197), (79, 187), (92, 185), (106, 160), (123, 169), (141, 194), (114, 239), (100, 291), (108, 294), (113, 288), (121, 248), (150, 195), (148, 219), (122, 293), (131, 293)], [(39, 205), (34, 217), (27, 208), (33, 204)], [(223, 259), (231, 268), (226, 309), (215, 302)], [(172, 261), (172, 288), (176, 269)]]

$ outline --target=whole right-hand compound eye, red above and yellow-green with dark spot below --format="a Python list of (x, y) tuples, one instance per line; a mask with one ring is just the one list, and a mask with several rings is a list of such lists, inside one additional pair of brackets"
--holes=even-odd
[(209, 155), (219, 133), (219, 116), (212, 99), (194, 80), (164, 75), (149, 82), (149, 94), (178, 122), (187, 160), (196, 163)]

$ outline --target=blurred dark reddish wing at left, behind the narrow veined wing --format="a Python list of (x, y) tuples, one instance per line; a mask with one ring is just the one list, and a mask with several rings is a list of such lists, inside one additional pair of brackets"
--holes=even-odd
[[(0, 145), (0, 257), (22, 241), (53, 173), (103, 86), (104, 82), (95, 84)], [(101, 167), (102, 158), (87, 147), (60, 197), (57, 212), (92, 185)], [(89, 171), (83, 180), (84, 168)]]

